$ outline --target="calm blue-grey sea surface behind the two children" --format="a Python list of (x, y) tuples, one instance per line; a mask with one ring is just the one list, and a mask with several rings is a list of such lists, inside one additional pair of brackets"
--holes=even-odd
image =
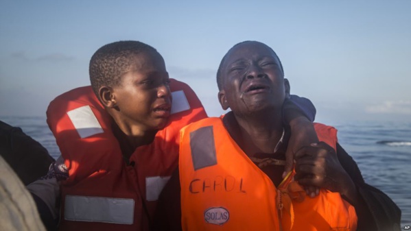
[[(45, 117), (0, 117), (18, 126), (58, 158), (60, 152)], [(411, 225), (411, 123), (334, 123), (339, 143), (360, 166), (366, 182), (401, 208), (401, 226)]]

